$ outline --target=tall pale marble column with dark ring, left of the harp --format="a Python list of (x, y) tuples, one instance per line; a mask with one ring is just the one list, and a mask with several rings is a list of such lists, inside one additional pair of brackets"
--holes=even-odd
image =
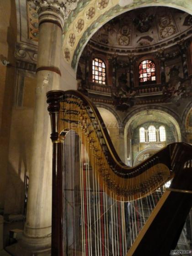
[[(39, 14), (37, 87), (33, 144), (29, 176), (27, 219), (21, 247), (28, 254), (50, 255), (52, 199), (52, 142), (46, 93), (59, 90), (64, 4), (61, 1), (31, 1)], [(20, 254), (21, 255), (21, 254)]]

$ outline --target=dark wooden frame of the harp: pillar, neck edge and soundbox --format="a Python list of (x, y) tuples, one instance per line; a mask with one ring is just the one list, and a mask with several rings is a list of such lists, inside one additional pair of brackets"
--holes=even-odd
[[(165, 169), (167, 173), (169, 172), (169, 177), (162, 177), (162, 179), (164, 178), (165, 181), (173, 177), (171, 187), (165, 192), (165, 196), (160, 199), (160, 202), (155, 207), (152, 213), (153, 222), (151, 220), (147, 221), (143, 229), (144, 231), (140, 232), (141, 234), (139, 234), (133, 244), (133, 248), (128, 251), (128, 255), (169, 255), (170, 250), (174, 249), (177, 244), (185, 219), (192, 206), (192, 146), (185, 143), (169, 144), (143, 163), (129, 168), (119, 159), (107, 129), (103, 126), (98, 110), (88, 98), (78, 91), (49, 91), (47, 93), (47, 102), (51, 117), (51, 139), (53, 142), (52, 256), (64, 255), (62, 230), (62, 141), (59, 140), (59, 111), (60, 101), (63, 101), (66, 95), (79, 97), (84, 106), (89, 109), (91, 108), (94, 112), (98, 124), (101, 125), (102, 123), (100, 128), (107, 145), (107, 150), (105, 151), (107, 162), (112, 166), (112, 170), (116, 172), (117, 176), (123, 179), (133, 178), (138, 174), (142, 174), (147, 169), (150, 170), (151, 166), (156, 166), (158, 163), (166, 166)], [(145, 168), (143, 169), (142, 166), (145, 166)], [(152, 177), (151, 180), (153, 178), (158, 180), (158, 176)], [(144, 183), (147, 182), (145, 181)], [(148, 185), (144, 184), (144, 186)], [(117, 186), (116, 188), (118, 190)], [(128, 192), (126, 194), (125, 191), (123, 195), (128, 195)]]

